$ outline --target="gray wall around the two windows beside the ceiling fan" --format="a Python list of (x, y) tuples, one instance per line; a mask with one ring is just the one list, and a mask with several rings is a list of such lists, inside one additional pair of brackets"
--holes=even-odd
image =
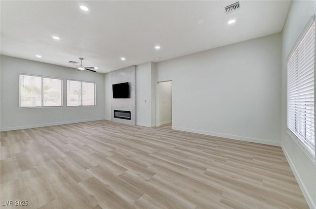
[[(19, 108), (19, 73), (63, 78), (64, 106)], [(0, 74), (1, 131), (104, 119), (103, 74), (2, 55)], [(96, 106), (67, 107), (66, 79), (96, 82)]]

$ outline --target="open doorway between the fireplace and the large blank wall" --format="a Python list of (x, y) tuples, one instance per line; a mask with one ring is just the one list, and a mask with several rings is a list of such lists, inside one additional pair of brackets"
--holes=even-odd
[(157, 84), (156, 126), (172, 124), (172, 81)]

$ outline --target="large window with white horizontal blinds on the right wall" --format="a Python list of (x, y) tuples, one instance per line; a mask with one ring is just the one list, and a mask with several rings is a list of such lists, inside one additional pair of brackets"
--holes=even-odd
[(287, 61), (287, 127), (315, 158), (315, 20)]

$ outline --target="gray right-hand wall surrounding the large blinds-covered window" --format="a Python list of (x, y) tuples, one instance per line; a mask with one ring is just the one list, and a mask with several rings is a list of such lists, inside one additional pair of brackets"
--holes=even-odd
[(286, 59), (304, 27), (316, 13), (316, 1), (294, 0), (282, 31), (282, 149), (311, 209), (316, 209), (316, 164), (287, 131), (286, 125)]

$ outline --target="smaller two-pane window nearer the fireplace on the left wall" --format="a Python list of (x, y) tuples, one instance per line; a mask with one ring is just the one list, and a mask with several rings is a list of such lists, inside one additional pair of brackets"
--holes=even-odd
[(94, 106), (95, 83), (67, 80), (67, 106)]

